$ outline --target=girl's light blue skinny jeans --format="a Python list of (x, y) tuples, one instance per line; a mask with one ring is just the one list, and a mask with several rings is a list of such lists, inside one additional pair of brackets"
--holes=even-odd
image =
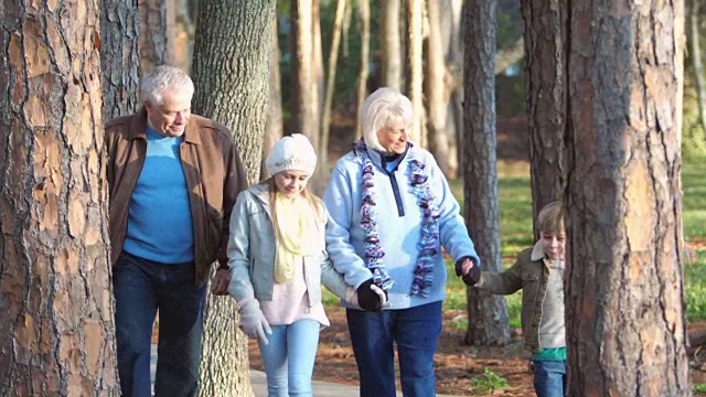
[(315, 320), (299, 320), (289, 325), (274, 325), (266, 345), (258, 341), (267, 374), (268, 397), (311, 397), (313, 361), (319, 346)]

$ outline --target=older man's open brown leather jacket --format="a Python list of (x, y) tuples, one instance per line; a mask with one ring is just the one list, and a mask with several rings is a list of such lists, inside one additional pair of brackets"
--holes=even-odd
[[(147, 112), (106, 125), (108, 190), (110, 194), (110, 261), (115, 266), (128, 227), (128, 206), (147, 153)], [(196, 285), (203, 285), (216, 259), (227, 268), (228, 223), (235, 200), (247, 187), (240, 157), (228, 129), (210, 119), (192, 115), (180, 148), (181, 163), (189, 186), (194, 227)]]

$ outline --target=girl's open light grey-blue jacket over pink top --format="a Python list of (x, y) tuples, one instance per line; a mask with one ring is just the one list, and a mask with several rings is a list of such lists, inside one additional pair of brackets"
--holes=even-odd
[[(228, 292), (238, 302), (252, 298), (272, 300), (276, 249), (269, 183), (267, 180), (240, 192), (231, 215)], [(321, 232), (322, 247), (328, 217), (325, 207), (321, 205), (318, 219), (324, 221), (317, 226)], [(331, 292), (345, 299), (349, 286), (343, 276), (335, 271), (324, 249), (318, 255), (306, 256), (302, 260), (310, 305), (321, 302), (322, 282)]]

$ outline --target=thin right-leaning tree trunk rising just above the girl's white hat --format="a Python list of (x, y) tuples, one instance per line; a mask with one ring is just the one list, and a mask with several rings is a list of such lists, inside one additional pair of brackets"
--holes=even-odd
[(320, 163), (329, 163), (329, 131), (331, 129), (331, 106), (333, 103), (333, 88), (335, 86), (335, 67), (339, 62), (339, 47), (341, 45), (341, 30), (345, 17), (347, 0), (338, 0), (335, 7), (335, 20), (331, 36), (331, 52), (329, 53), (329, 73), (327, 75), (327, 95), (323, 103), (323, 116), (321, 117), (321, 146), (319, 147)]

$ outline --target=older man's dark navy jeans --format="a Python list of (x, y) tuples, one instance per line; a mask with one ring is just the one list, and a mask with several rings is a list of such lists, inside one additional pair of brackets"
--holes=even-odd
[(194, 396), (199, 385), (205, 286), (194, 265), (164, 265), (122, 251), (114, 270), (122, 396), (149, 397), (152, 325), (159, 309), (156, 396)]

